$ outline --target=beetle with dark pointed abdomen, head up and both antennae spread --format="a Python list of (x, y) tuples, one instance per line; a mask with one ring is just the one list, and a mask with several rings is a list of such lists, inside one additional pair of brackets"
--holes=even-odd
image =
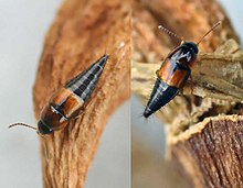
[(180, 38), (181, 44), (167, 55), (162, 65), (156, 71), (157, 80), (144, 111), (145, 118), (155, 113), (178, 95), (191, 75), (191, 68), (197, 60), (199, 52), (198, 45), (220, 23), (221, 21), (214, 24), (197, 44), (194, 42), (186, 42), (183, 37), (159, 25), (159, 29), (165, 33)]

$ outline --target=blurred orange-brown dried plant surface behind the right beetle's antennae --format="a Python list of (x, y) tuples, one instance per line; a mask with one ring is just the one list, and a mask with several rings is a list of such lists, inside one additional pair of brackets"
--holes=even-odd
[[(133, 57), (136, 62), (157, 63), (180, 41), (158, 30), (171, 30), (186, 41), (198, 42), (209, 29), (222, 21), (220, 29), (200, 44), (200, 52), (213, 52), (233, 38), (239, 42), (229, 19), (215, 1), (135, 0), (133, 1)], [(136, 57), (135, 57), (136, 55)]]

